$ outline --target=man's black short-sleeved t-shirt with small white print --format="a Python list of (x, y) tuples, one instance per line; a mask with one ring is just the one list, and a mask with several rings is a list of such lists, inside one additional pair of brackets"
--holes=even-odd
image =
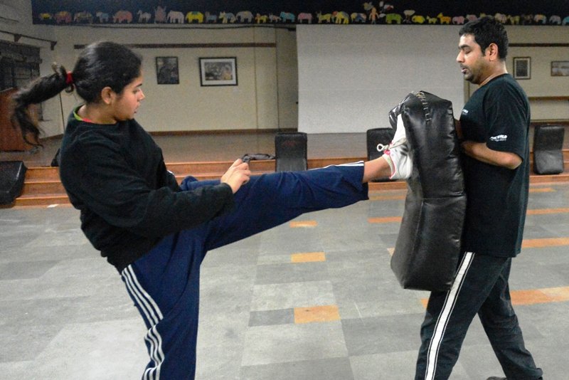
[(485, 142), (489, 149), (515, 153), (523, 160), (512, 170), (462, 157), (468, 198), (463, 249), (514, 257), (521, 250), (528, 204), (528, 97), (511, 75), (500, 75), (472, 94), (460, 124), (464, 139)]

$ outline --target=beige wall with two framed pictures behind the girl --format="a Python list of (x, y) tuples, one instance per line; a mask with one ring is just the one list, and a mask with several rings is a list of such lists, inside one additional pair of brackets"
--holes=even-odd
[[(137, 48), (143, 58), (144, 86), (147, 98), (139, 109), (137, 120), (150, 132), (192, 130), (276, 130), (296, 128), (294, 114), (297, 93), (296, 36), (294, 32), (276, 28), (101, 28), (89, 26), (35, 26), (31, 20), (31, 1), (0, 0), (21, 14), (17, 23), (2, 23), (0, 30), (57, 41), (50, 43), (33, 38), (19, 42), (41, 47), (41, 74), (51, 73), (57, 61), (68, 70), (80, 50), (75, 45), (110, 40), (126, 44), (141, 43), (269, 43), (255, 48)], [(0, 39), (14, 41), (10, 33)], [(276, 46), (276, 47), (275, 47)], [(285, 49), (285, 51), (283, 51)], [(156, 83), (157, 56), (176, 56), (179, 60), (179, 85)], [(201, 57), (237, 58), (238, 85), (201, 87)], [(282, 63), (279, 62), (282, 60)], [(294, 60), (294, 64), (292, 63)], [(41, 127), (46, 136), (63, 132), (63, 120), (74, 105), (77, 95), (62, 93), (44, 104)], [(63, 115), (62, 117), (62, 109)], [(289, 111), (290, 110), (290, 111)], [(281, 115), (280, 115), (281, 114)]]

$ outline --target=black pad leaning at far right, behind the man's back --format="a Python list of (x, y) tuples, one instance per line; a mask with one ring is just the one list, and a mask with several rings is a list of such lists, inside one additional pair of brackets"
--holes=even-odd
[(533, 130), (533, 171), (536, 174), (560, 174), (563, 165), (562, 125), (536, 125)]

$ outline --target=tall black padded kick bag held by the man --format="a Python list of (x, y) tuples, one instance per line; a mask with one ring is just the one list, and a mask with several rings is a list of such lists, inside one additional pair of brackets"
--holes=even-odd
[(467, 198), (452, 103), (411, 93), (390, 111), (401, 115), (413, 161), (391, 269), (405, 289), (449, 290), (457, 270)]

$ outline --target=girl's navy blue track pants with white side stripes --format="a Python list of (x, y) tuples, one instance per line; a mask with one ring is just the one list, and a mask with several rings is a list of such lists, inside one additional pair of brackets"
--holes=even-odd
[[(142, 379), (194, 379), (200, 265), (208, 250), (278, 226), (302, 213), (368, 199), (363, 162), (252, 176), (235, 194), (235, 209), (196, 228), (166, 236), (122, 271), (148, 328), (150, 356)], [(218, 181), (184, 179), (182, 190)]]

